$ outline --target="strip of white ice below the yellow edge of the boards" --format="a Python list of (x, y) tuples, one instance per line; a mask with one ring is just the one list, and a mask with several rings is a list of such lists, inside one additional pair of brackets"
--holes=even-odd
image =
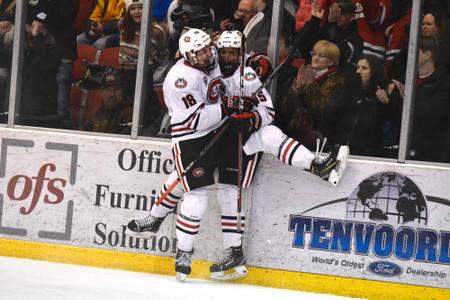
[(327, 300), (332, 295), (0, 257), (1, 300)]

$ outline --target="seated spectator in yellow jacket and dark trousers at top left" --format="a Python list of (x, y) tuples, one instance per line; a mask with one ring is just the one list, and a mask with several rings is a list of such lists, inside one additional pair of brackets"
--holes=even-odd
[(118, 47), (117, 21), (123, 9), (123, 0), (97, 0), (89, 16), (86, 32), (77, 36), (77, 43), (92, 45), (100, 50)]

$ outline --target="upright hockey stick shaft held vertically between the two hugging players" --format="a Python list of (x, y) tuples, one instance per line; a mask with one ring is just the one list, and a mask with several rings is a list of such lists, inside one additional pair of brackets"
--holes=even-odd
[[(245, 34), (241, 36), (241, 65), (239, 66), (239, 113), (244, 110), (244, 68), (245, 68)], [(242, 213), (242, 132), (238, 133), (238, 172), (237, 172), (237, 223), (236, 230), (241, 232)]]

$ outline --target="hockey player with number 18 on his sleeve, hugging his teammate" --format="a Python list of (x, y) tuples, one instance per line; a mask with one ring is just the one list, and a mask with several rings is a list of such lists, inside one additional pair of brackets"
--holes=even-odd
[[(179, 48), (183, 59), (167, 74), (163, 91), (171, 117), (175, 167), (177, 173), (182, 174), (214, 138), (230, 112), (222, 106), (225, 85), (218, 67), (217, 50), (209, 35), (199, 29), (190, 29), (180, 37)], [(219, 172), (219, 202), (225, 203), (221, 200), (237, 194), (237, 154), (232, 153), (235, 149), (237, 136), (225, 131), (198, 160), (192, 172), (181, 178), (184, 201), (176, 221), (178, 251), (175, 260), (175, 271), (181, 281), (191, 272), (194, 239), (207, 206), (206, 187), (214, 184), (216, 169)]]

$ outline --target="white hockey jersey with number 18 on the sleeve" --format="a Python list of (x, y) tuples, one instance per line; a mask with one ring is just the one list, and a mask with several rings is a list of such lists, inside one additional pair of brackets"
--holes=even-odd
[(181, 59), (167, 74), (163, 93), (172, 142), (204, 136), (221, 125), (225, 85), (218, 66), (206, 73)]

